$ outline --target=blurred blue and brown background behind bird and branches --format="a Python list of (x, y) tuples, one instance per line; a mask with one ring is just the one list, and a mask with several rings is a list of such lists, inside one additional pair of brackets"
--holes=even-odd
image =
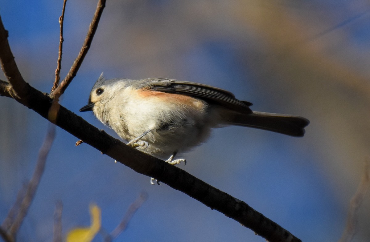
[[(69, 0), (61, 78), (81, 48), (97, 1)], [(24, 79), (50, 92), (63, 1), (0, 0)], [(253, 110), (295, 114), (303, 138), (243, 127), (213, 130), (179, 166), (245, 201), (302, 241), (337, 241), (370, 145), (370, 3), (343, 0), (109, 0), (62, 105), (118, 137), (87, 104), (95, 80), (165, 77), (227, 89)], [(5, 79), (3, 74), (1, 79)], [(0, 98), (0, 221), (34, 170), (48, 121)], [(51, 241), (55, 202), (63, 233), (102, 209), (108, 232), (140, 192), (148, 200), (117, 241), (265, 241), (225, 215), (137, 174), (57, 128), (19, 241)], [(370, 241), (370, 195), (353, 241)], [(102, 241), (98, 235), (94, 241)]]

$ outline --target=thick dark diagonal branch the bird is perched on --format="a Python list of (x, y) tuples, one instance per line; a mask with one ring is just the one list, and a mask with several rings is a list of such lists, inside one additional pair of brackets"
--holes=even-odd
[[(27, 104), (28, 108), (48, 119), (52, 99), (46, 93), (41, 93), (32, 87), (29, 88), (29, 91), (27, 101), (17, 98), (16, 100), (24, 105)], [(138, 173), (154, 177), (170, 187), (188, 194), (211, 209), (222, 212), (227, 217), (252, 229), (256, 234), (270, 242), (300, 241), (289, 231), (249, 207), (245, 202), (206, 184), (180, 168), (128, 147), (103, 130), (98, 130), (90, 125), (63, 106), (59, 108), (55, 123), (68, 133), (83, 140), (84, 143), (90, 144), (103, 154), (110, 156), (113, 160), (117, 160)]]

